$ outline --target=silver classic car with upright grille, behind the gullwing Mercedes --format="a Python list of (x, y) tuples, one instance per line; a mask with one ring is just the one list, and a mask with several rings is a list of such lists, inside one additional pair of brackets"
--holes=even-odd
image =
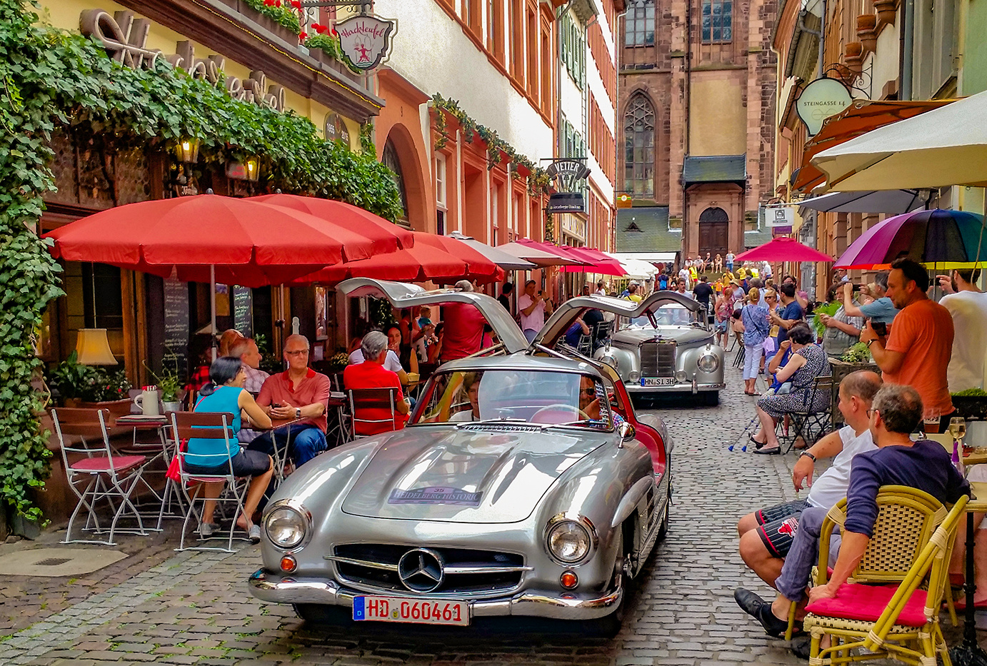
[(616, 333), (594, 357), (620, 373), (632, 395), (691, 393), (717, 405), (724, 352), (705, 310), (675, 291), (657, 291), (645, 302), (624, 301)]

